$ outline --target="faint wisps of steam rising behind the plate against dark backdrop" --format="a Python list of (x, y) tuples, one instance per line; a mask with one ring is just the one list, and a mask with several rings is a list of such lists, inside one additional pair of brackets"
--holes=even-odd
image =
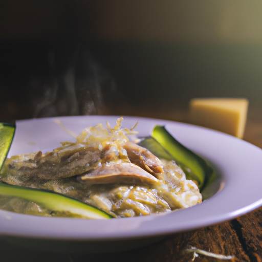
[(78, 49), (64, 64), (54, 51), (48, 58), (49, 82), (38, 84), (43, 91), (33, 117), (104, 114), (103, 88), (114, 83), (92, 54)]

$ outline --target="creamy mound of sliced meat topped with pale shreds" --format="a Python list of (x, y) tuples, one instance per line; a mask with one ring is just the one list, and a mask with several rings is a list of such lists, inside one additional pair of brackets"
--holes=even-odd
[[(203, 186), (204, 180), (199, 173), (195, 174), (196, 179), (187, 179), (182, 170), (186, 163), (180, 159), (178, 163), (174, 161), (173, 152), (163, 149), (161, 141), (156, 143), (163, 151), (167, 150), (169, 158), (158, 157), (141, 146), (144, 140), (140, 144), (130, 141), (128, 137), (134, 135), (135, 126), (121, 128), (121, 121), (119, 118), (114, 128), (109, 124), (107, 128), (102, 124), (85, 128), (76, 142), (62, 142), (51, 152), (38, 151), (6, 159), (0, 172), (2, 182), (60, 193), (113, 217), (158, 214), (201, 203), (197, 184)], [(194, 172), (193, 166), (187, 170)], [(39, 204), (39, 210), (48, 207), (29, 198), (27, 201)], [(0, 207), (4, 208), (2, 202), (6, 202), (0, 199)], [(24, 206), (21, 212), (32, 213), (29, 203)], [(48, 207), (40, 213), (52, 216), (54, 208)]]

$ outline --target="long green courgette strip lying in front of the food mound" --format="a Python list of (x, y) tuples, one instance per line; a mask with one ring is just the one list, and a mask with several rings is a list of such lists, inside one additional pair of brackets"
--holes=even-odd
[(23, 198), (56, 212), (69, 213), (71, 216), (85, 219), (112, 218), (110, 214), (100, 209), (55, 192), (0, 183), (0, 194)]

